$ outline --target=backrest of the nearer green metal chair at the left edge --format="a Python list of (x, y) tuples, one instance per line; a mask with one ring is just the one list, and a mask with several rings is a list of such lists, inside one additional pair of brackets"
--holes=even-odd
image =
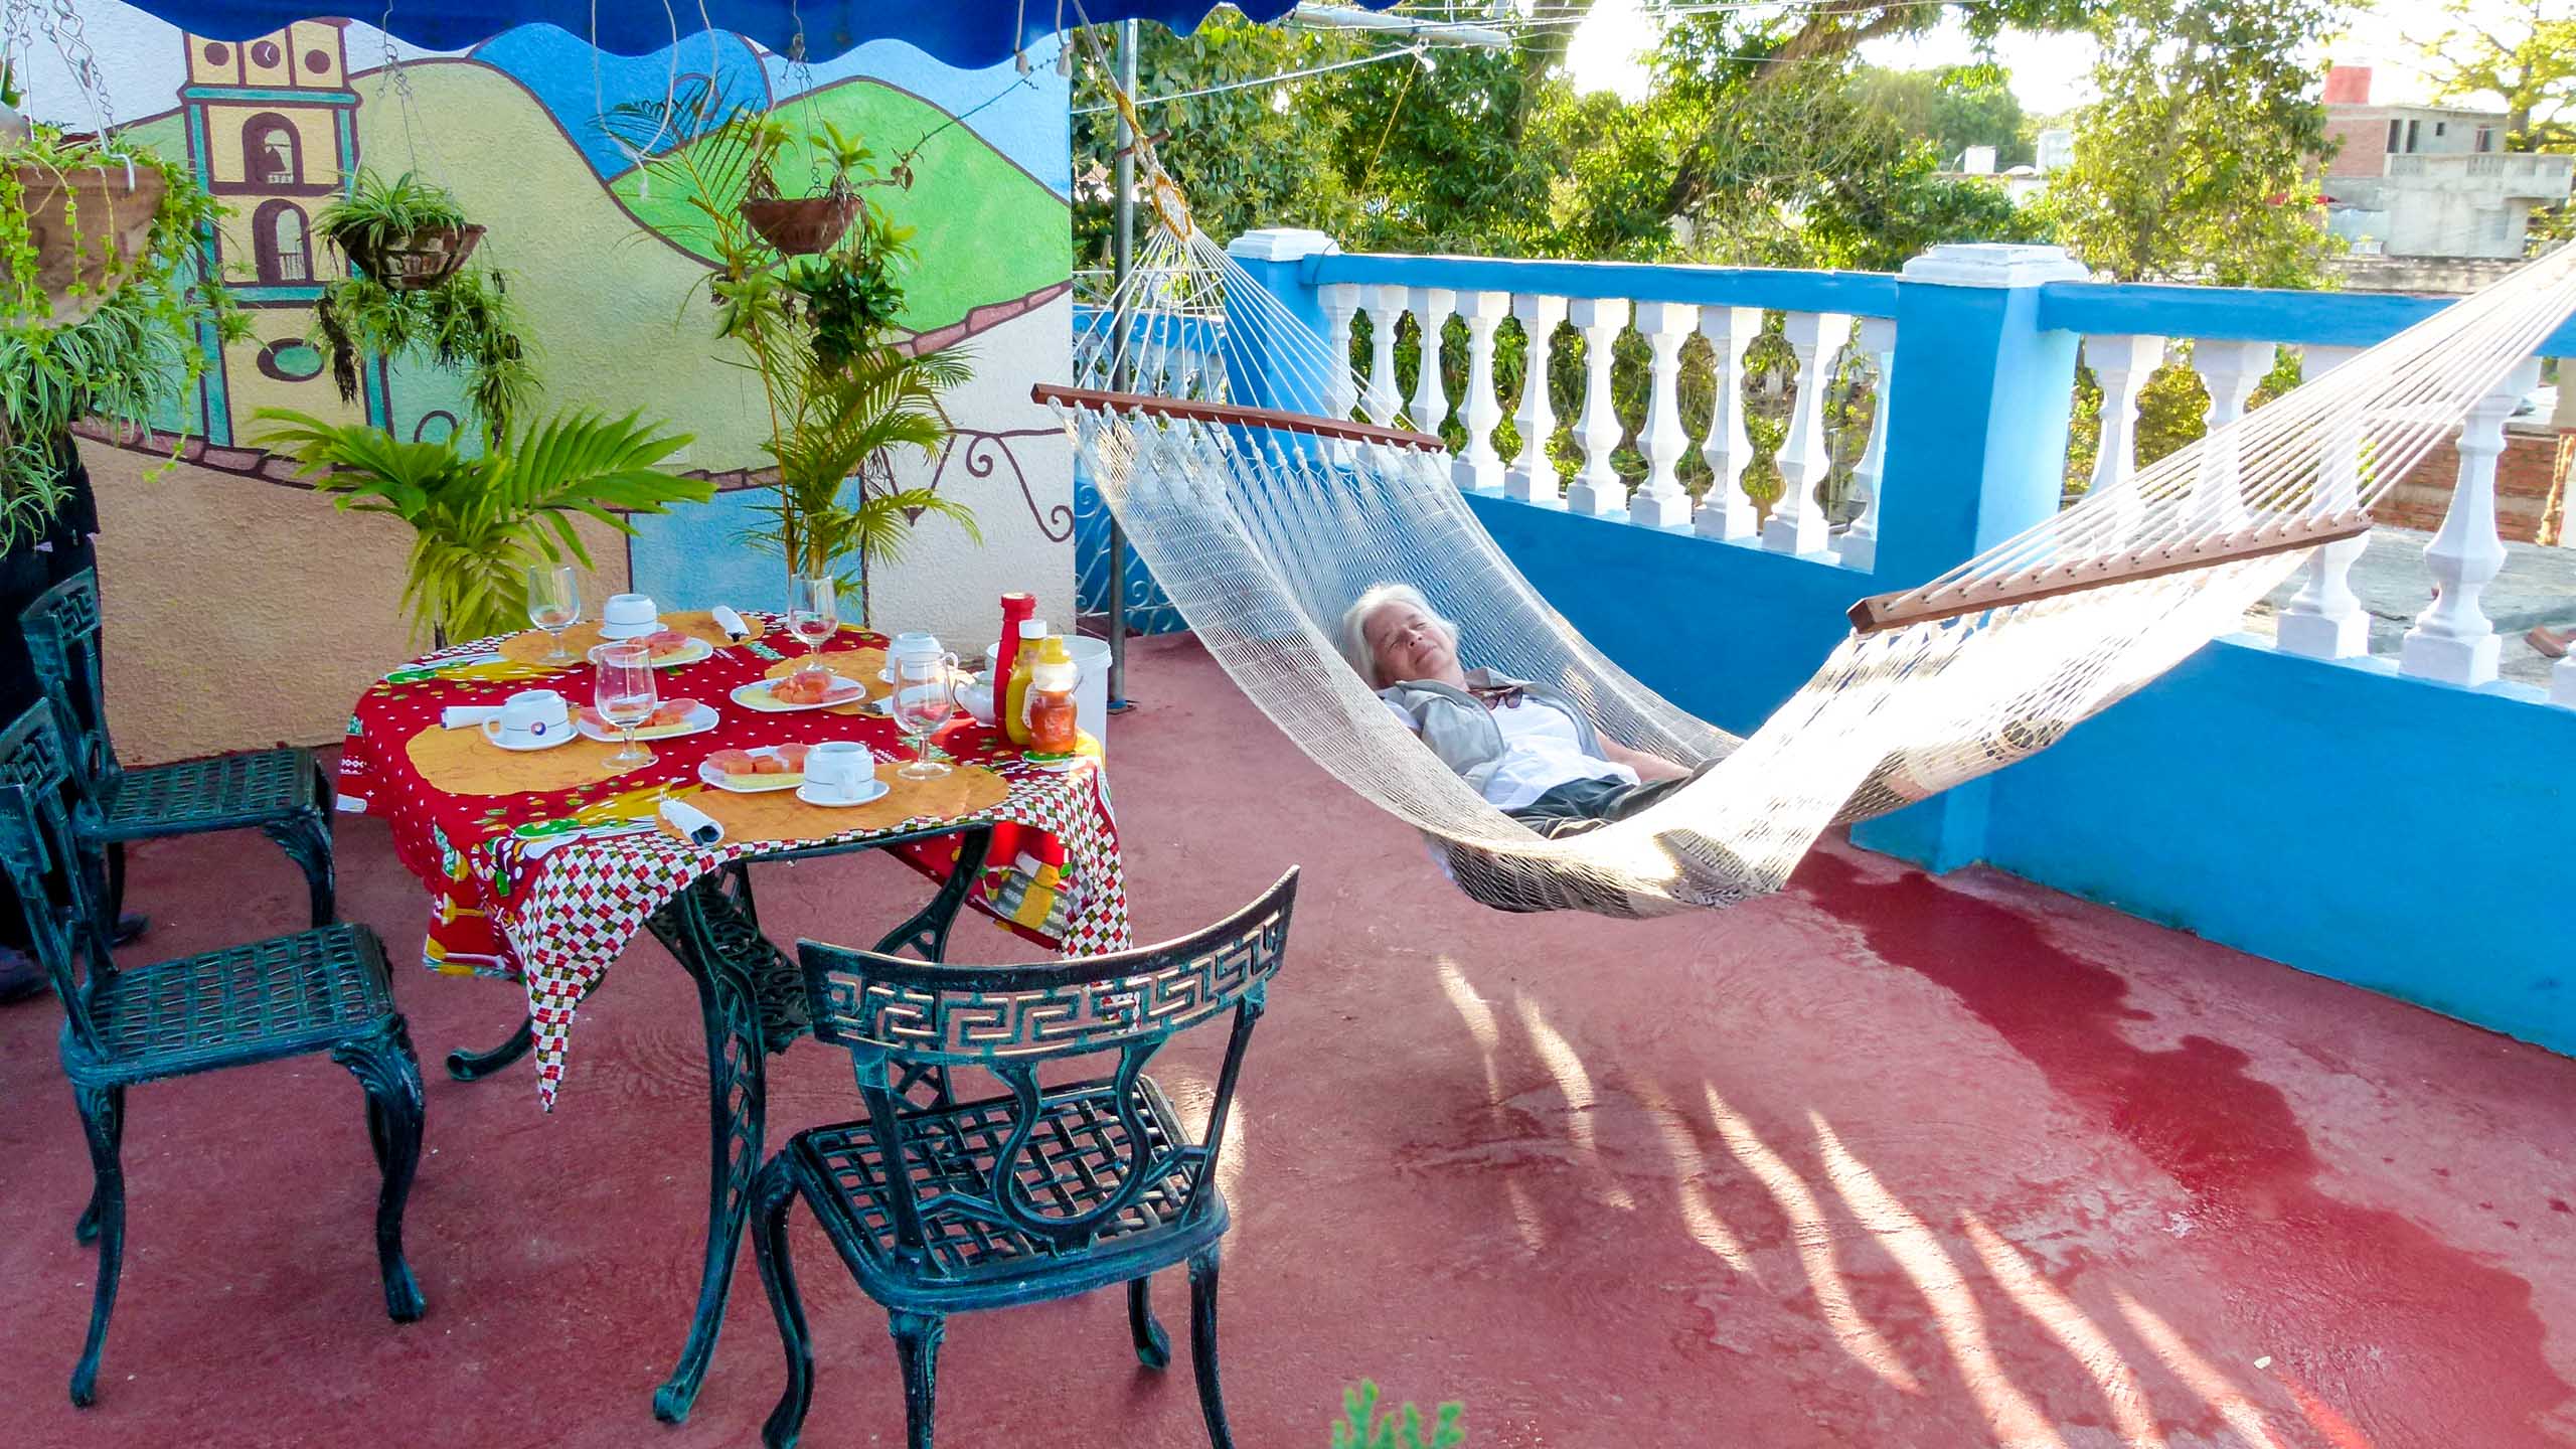
[(72, 1039), (103, 1052), (90, 993), (116, 975), (98, 915), (98, 853), (72, 830), (72, 758), (49, 704), (0, 732), (0, 866), (18, 890), (28, 946), (72, 1018)]

